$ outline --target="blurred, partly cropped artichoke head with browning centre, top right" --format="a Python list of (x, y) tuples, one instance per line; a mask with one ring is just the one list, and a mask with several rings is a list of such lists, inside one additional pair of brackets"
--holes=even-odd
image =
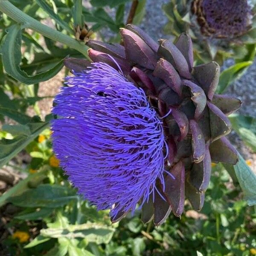
[(247, 0), (170, 0), (163, 11), (169, 18), (165, 32), (175, 37), (187, 32), (198, 62), (242, 59), (246, 44), (256, 42), (255, 8)]

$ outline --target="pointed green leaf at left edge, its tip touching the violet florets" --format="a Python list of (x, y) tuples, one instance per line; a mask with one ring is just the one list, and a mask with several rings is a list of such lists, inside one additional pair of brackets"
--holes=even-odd
[(19, 135), (12, 140), (0, 140), (0, 168), (9, 162), (16, 154), (34, 140), (42, 131), (49, 126), (49, 122), (30, 123), (31, 134), (29, 136)]

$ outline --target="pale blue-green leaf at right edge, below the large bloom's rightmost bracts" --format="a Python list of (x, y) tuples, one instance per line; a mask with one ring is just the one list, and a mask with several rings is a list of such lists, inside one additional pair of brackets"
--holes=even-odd
[(239, 161), (234, 166), (236, 177), (239, 180), (241, 189), (244, 192), (244, 199), (247, 204), (256, 205), (256, 175), (239, 154)]

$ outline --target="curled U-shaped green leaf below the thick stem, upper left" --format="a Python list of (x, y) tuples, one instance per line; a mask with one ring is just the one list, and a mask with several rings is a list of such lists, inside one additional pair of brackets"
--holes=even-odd
[(20, 47), (21, 27), (18, 24), (12, 25), (9, 27), (8, 34), (1, 43), (0, 54), (2, 55), (6, 73), (24, 84), (36, 84), (41, 81), (47, 81), (55, 76), (63, 67), (64, 59), (46, 72), (39, 73), (35, 76), (28, 76), (23, 70), (20, 70)]

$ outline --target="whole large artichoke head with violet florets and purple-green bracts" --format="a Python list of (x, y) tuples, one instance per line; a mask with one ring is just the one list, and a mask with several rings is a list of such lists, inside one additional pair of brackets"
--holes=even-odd
[(220, 67), (193, 67), (191, 38), (158, 44), (134, 25), (123, 45), (90, 40), (93, 63), (67, 59), (73, 76), (55, 98), (53, 148), (70, 181), (119, 221), (138, 204), (142, 221), (204, 204), (212, 162), (236, 164), (227, 115), (239, 99), (215, 94)]

